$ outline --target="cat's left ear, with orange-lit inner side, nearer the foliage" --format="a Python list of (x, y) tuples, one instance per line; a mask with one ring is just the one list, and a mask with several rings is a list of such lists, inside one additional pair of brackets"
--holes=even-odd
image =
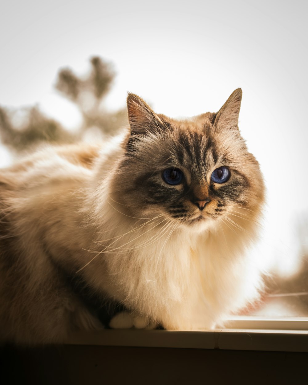
[(129, 93), (127, 96), (127, 112), (132, 135), (147, 134), (163, 126), (155, 112), (135, 94)]

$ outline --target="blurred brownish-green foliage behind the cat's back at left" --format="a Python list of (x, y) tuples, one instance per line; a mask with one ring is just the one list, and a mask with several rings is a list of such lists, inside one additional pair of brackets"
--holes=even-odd
[(37, 106), (15, 111), (0, 107), (2, 143), (15, 151), (23, 151), (42, 142), (75, 142), (94, 128), (103, 134), (114, 135), (127, 124), (126, 108), (116, 112), (104, 108), (104, 98), (115, 76), (112, 65), (99, 57), (92, 57), (90, 65), (90, 71), (84, 77), (75, 75), (70, 69), (60, 70), (55, 85), (82, 115), (82, 124), (76, 132), (67, 131), (59, 122), (40, 112)]

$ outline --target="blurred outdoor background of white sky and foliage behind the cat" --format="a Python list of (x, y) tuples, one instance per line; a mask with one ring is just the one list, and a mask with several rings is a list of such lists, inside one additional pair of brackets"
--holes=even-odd
[(2, 4), (0, 167), (42, 142), (127, 124), (127, 91), (171, 117), (217, 111), (242, 87), (239, 128), (267, 206), (248, 252), (266, 269), (254, 314), (308, 316), (307, 2), (97, 0)]

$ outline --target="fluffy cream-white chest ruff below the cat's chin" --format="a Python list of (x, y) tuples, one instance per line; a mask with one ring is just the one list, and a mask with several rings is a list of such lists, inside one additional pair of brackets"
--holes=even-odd
[(85, 274), (137, 315), (171, 330), (210, 329), (258, 297), (260, 272), (243, 256), (252, 233), (217, 221), (191, 233), (168, 219), (141, 224), (110, 204), (102, 209), (114, 227)]

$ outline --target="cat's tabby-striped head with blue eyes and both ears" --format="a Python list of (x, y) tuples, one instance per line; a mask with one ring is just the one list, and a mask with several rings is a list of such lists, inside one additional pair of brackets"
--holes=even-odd
[(241, 98), (236, 89), (216, 114), (176, 120), (129, 94), (131, 132), (112, 183), (117, 209), (196, 231), (219, 220), (257, 216), (264, 186), (238, 129)]

